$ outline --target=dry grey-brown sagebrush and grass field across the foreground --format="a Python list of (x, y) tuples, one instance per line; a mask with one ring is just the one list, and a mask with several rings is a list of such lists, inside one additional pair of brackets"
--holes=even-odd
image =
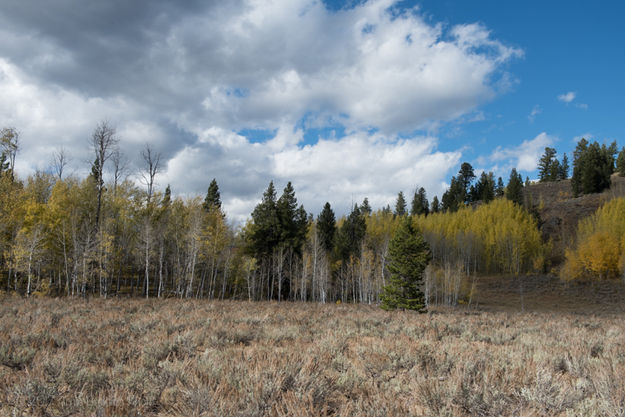
[(2, 416), (623, 416), (625, 315), (0, 300)]

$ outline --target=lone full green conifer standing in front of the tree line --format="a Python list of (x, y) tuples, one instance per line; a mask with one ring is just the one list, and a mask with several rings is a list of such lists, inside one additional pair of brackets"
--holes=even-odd
[(421, 291), (423, 272), (432, 254), (423, 236), (406, 219), (389, 244), (389, 283), (381, 296), (385, 310), (426, 311), (425, 297)]

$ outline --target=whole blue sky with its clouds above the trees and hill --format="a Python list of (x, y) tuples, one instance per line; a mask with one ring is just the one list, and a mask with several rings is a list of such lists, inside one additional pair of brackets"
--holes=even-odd
[(462, 162), (536, 177), (546, 146), (625, 145), (625, 2), (3, 0), (0, 126), (18, 175), (86, 175), (114, 126), (131, 179), (204, 195), (234, 223), (269, 181), (317, 215), (373, 208)]

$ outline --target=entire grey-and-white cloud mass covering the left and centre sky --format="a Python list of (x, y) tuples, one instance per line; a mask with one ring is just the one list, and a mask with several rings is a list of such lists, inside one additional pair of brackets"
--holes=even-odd
[[(239, 217), (271, 178), (294, 180), (311, 204), (328, 190), (380, 204), (416, 184), (439, 193), (459, 153), (414, 132), (480, 114), (522, 51), (396, 3), (7, 0), (0, 115), (22, 131), (18, 168), (45, 168), (60, 146), (88, 163), (91, 131), (108, 119), (135, 168), (149, 142), (162, 183), (203, 193), (217, 177)], [(328, 125), (345, 137), (303, 141), (307, 126)], [(277, 133), (253, 143), (235, 133), (245, 129)]]

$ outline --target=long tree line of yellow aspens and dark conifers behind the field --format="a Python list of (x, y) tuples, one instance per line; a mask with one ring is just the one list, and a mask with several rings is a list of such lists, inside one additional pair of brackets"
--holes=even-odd
[[(107, 123), (90, 138), (93, 162), (85, 178), (64, 175), (62, 150), (50, 172), (20, 178), (14, 169), (19, 132), (1, 134), (0, 289), (6, 292), (379, 303), (397, 280), (389, 259), (401, 256), (391, 256), (389, 247), (400, 229), (405, 239), (398, 247), (421, 247), (409, 233), (423, 236), (429, 248), (422, 260), (431, 259), (430, 266), (411, 267), (423, 265), (426, 276), (425, 299), (413, 299), (417, 306), (458, 302), (458, 277), (545, 267), (549, 248), (523, 207), (525, 185), (516, 169), (504, 185), (465, 162), (440, 201), (429, 201), (417, 185), (409, 194), (400, 191), (393, 208), (374, 209), (365, 198), (344, 216), (330, 202), (309, 213), (293, 184), (280, 189), (270, 182), (250, 220), (236, 228), (216, 179), (201, 197), (159, 189), (161, 157), (150, 146), (141, 153), (139, 181), (129, 180)], [(600, 183), (598, 173), (616, 166), (625, 174), (625, 148), (616, 159), (615, 149), (580, 141), (573, 161), (580, 193)], [(566, 177), (566, 158), (557, 169), (554, 161), (550, 150), (545, 172)]]

